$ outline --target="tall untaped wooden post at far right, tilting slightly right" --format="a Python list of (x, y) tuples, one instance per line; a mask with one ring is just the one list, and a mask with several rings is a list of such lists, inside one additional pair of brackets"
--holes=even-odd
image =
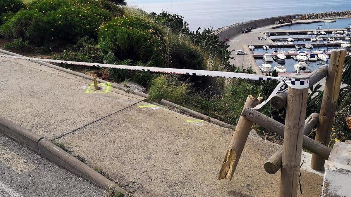
[[(333, 49), (330, 57), (328, 75), (319, 112), (319, 121), (315, 140), (325, 145), (329, 144), (331, 128), (333, 126), (335, 110), (338, 104), (343, 66), (346, 50)], [(324, 170), (325, 159), (313, 154), (311, 168), (317, 171)]]

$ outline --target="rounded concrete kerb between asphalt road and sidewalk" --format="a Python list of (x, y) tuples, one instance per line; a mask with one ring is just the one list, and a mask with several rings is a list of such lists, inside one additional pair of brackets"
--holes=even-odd
[(120, 186), (102, 176), (85, 163), (62, 150), (48, 139), (17, 125), (6, 118), (0, 117), (0, 133), (7, 135), (14, 141), (35, 151), (38, 155), (47, 158), (60, 167), (84, 178), (100, 188), (113, 193), (127, 192)]

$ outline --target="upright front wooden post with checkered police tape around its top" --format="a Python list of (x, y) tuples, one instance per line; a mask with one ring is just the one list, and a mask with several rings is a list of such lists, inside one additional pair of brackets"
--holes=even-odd
[[(292, 79), (308, 79), (305, 74), (293, 74)], [(304, 136), (307, 91), (289, 87), (286, 103), (280, 197), (296, 197)]]

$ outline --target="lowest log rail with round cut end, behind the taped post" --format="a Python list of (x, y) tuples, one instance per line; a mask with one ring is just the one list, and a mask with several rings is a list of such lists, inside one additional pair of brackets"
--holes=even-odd
[[(310, 131), (317, 125), (318, 122), (317, 113), (312, 113), (305, 120), (305, 129), (304, 135), (308, 135)], [(274, 152), (274, 154), (266, 161), (264, 164), (264, 169), (269, 174), (276, 174), (276, 172), (282, 167), (282, 158), (283, 158), (283, 146), (279, 147), (279, 149)]]

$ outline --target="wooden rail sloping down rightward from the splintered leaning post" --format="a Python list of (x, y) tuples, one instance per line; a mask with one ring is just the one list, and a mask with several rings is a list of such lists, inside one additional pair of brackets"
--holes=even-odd
[[(252, 108), (246, 108), (241, 113), (241, 116), (244, 116), (246, 119), (260, 125), (261, 127), (266, 128), (282, 137), (284, 137), (284, 124), (273, 120), (272, 118), (256, 111)], [(324, 144), (318, 143), (313, 139), (304, 135), (304, 142), (302, 147), (317, 154), (325, 159), (328, 159), (331, 148), (327, 147)]]

